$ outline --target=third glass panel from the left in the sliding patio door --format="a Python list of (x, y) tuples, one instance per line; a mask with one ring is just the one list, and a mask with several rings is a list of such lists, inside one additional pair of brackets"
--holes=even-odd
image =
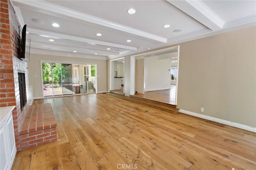
[(72, 64), (61, 64), (61, 67), (62, 67), (62, 94), (63, 95), (73, 94)]

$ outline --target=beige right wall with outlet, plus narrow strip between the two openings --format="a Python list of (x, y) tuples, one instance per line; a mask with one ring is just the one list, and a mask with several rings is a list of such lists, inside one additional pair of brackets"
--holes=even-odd
[[(177, 107), (256, 127), (256, 27), (176, 45), (180, 45)], [(128, 95), (128, 56), (125, 85)]]

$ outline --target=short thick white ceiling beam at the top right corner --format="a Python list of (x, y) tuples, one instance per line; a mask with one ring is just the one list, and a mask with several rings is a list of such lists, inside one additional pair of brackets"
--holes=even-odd
[(222, 29), (225, 23), (201, 0), (167, 0), (167, 1), (212, 30)]

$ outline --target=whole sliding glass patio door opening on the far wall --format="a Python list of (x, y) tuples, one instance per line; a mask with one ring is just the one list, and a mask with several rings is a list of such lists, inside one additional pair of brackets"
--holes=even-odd
[(96, 93), (96, 64), (41, 63), (44, 98)]

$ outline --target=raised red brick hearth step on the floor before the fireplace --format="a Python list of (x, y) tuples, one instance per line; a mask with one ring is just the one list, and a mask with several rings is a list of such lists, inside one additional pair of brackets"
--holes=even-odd
[(19, 133), (21, 150), (57, 141), (56, 126), (51, 104), (29, 106)]

